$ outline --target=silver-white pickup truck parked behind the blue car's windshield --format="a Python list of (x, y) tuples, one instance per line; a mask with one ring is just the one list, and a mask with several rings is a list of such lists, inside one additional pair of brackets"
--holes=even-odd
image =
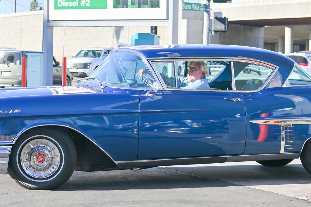
[(108, 56), (113, 48), (84, 48), (74, 57), (67, 59), (67, 68), (72, 76), (89, 76)]

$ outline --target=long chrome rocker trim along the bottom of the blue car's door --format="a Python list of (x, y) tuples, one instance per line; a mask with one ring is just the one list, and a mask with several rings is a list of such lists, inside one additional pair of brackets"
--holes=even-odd
[(149, 160), (131, 160), (117, 161), (118, 165), (124, 167), (156, 167), (167, 165), (185, 165), (185, 164), (207, 164), (207, 163), (225, 163), (225, 162), (244, 162), (276, 159), (297, 159), (299, 153), (288, 154), (255, 154), (255, 155), (232, 155), (198, 158), (175, 158), (175, 159), (149, 159)]

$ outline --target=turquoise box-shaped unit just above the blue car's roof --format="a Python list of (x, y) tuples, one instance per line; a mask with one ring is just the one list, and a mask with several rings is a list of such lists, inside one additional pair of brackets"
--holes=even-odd
[(136, 33), (131, 37), (131, 46), (160, 44), (160, 36), (150, 33)]

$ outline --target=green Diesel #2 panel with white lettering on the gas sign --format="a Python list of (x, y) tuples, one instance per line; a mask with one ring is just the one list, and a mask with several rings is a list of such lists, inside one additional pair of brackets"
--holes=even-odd
[(107, 0), (54, 0), (54, 9), (107, 9)]

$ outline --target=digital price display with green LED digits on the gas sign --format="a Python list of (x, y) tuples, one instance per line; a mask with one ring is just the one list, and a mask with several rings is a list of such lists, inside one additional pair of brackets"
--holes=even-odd
[(160, 0), (113, 0), (113, 8), (160, 8)]

